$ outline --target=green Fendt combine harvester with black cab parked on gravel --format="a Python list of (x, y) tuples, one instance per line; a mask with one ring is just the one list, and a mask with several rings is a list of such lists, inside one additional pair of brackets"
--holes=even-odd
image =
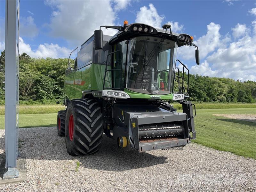
[[(103, 132), (119, 148), (138, 152), (185, 146), (196, 139), (196, 108), (188, 100), (189, 79), (184, 79), (189, 71), (176, 60), (178, 47), (194, 46), (199, 65), (193, 37), (173, 33), (168, 24), (158, 29), (124, 21), (124, 26), (101, 27), (117, 33), (108, 36), (95, 30), (80, 51), (76, 47), (70, 53), (77, 51), (76, 59), (68, 59), (65, 110), (57, 118), (68, 153), (95, 153)], [(172, 101), (180, 103), (183, 112), (177, 112)]]

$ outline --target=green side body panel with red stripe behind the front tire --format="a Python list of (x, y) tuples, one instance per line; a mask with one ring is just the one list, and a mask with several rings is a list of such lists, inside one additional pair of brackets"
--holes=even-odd
[[(82, 98), (82, 91), (102, 90), (106, 65), (91, 63), (65, 76), (64, 89), (67, 97)], [(110, 66), (108, 66), (108, 69)], [(107, 73), (105, 87), (111, 86), (111, 73)]]

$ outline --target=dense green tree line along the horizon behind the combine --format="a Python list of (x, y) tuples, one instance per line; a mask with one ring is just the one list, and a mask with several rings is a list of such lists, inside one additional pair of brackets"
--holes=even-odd
[[(20, 101), (53, 103), (64, 98), (64, 79), (68, 59), (20, 59)], [(182, 76), (182, 73), (180, 74)], [(0, 103), (4, 103), (5, 51), (0, 58)], [(184, 74), (184, 84), (188, 75)], [(186, 87), (185, 87), (186, 88)], [(175, 84), (174, 90), (177, 89)], [(189, 74), (189, 96), (202, 102), (255, 102), (256, 82)]]

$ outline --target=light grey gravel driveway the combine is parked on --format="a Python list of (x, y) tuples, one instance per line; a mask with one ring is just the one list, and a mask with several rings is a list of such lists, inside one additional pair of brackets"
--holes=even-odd
[(197, 144), (138, 154), (104, 135), (99, 152), (73, 157), (55, 127), (20, 129), (20, 140), (27, 180), (0, 191), (256, 191), (256, 160)]

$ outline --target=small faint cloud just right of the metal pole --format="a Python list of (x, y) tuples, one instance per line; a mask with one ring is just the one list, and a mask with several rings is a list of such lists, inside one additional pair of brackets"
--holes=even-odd
[(38, 28), (34, 22), (34, 18), (32, 16), (28, 16), (27, 18), (20, 18), (20, 36), (26, 37), (35, 37), (38, 35)]

